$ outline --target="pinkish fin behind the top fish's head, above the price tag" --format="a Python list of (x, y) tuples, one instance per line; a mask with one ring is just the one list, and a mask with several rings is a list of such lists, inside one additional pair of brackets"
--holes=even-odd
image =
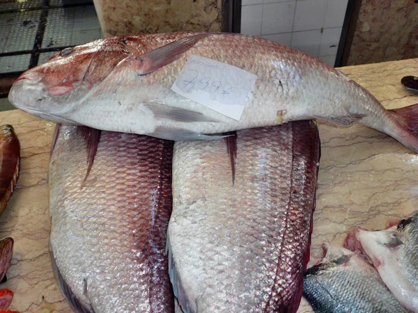
[(138, 74), (145, 75), (154, 72), (155, 70), (176, 61), (180, 58), (181, 54), (196, 45), (196, 42), (210, 35), (213, 35), (213, 33), (199, 33), (197, 35), (181, 38), (170, 42), (168, 45), (149, 51), (142, 56), (135, 57), (135, 59), (141, 63)]

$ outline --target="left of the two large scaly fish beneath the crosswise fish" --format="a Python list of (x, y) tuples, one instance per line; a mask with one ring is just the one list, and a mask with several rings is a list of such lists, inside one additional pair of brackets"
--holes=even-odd
[(73, 126), (56, 131), (50, 248), (61, 290), (76, 312), (174, 312), (165, 252), (173, 143), (99, 135)]

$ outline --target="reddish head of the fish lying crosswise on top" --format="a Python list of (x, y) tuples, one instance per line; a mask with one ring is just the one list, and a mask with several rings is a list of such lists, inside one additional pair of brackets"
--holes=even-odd
[(8, 98), (18, 109), (65, 123), (60, 115), (82, 102), (128, 54), (116, 38), (65, 48), (20, 75)]

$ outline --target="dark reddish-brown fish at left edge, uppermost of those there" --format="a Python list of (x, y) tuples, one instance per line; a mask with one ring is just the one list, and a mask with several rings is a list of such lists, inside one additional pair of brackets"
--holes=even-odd
[(15, 189), (20, 170), (20, 143), (12, 125), (0, 126), (0, 214)]

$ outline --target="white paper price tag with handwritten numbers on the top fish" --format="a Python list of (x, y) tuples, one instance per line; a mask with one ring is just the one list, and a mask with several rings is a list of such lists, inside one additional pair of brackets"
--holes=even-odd
[(256, 79), (257, 75), (238, 67), (191, 55), (171, 90), (234, 120), (240, 120)]

